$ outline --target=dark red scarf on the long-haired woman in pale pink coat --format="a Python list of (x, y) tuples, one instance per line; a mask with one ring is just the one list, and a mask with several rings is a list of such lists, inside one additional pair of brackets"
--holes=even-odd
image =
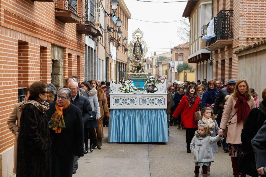
[(246, 94), (241, 94), (239, 91), (237, 91), (237, 100), (235, 104), (235, 108), (237, 108), (237, 122), (240, 122), (243, 120), (244, 124), (246, 122), (246, 117), (249, 115), (250, 112), (250, 107), (249, 104), (247, 103), (248, 96)]

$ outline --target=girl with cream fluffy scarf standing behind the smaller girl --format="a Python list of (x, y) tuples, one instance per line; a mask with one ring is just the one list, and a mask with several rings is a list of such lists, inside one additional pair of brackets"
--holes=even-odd
[[(219, 127), (215, 120), (215, 115), (213, 113), (213, 109), (209, 106), (205, 107), (201, 111), (201, 120), (198, 121), (198, 128), (200, 124), (207, 124), (210, 128), (210, 131), (212, 133), (211, 137), (215, 137), (218, 135)], [(212, 144), (212, 150), (213, 154), (218, 153), (218, 146), (217, 143)], [(210, 163), (211, 165), (211, 163)], [(210, 175), (210, 165), (208, 166), (208, 175)], [(203, 171), (201, 171), (201, 174), (203, 174)]]

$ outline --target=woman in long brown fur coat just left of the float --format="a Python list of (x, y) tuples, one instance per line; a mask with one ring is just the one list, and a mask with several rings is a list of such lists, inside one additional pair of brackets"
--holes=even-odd
[(90, 85), (92, 88), (97, 90), (97, 96), (98, 96), (98, 101), (99, 101), (99, 106), (100, 106), (100, 113), (101, 113), (101, 118), (98, 119), (98, 128), (96, 128), (97, 132), (97, 139), (95, 140), (95, 144), (98, 149), (101, 149), (102, 144), (102, 138), (103, 138), (103, 117), (110, 117), (109, 113), (109, 108), (108, 104), (103, 92), (103, 89), (100, 89), (98, 82), (93, 79), (90, 81)]

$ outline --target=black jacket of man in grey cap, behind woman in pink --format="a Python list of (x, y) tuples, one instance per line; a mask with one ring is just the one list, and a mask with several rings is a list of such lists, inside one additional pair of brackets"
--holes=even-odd
[(215, 99), (215, 102), (214, 102), (214, 107), (213, 107), (213, 113), (214, 114), (223, 114), (223, 107), (219, 106), (219, 104), (225, 104), (226, 102), (226, 95), (229, 95), (229, 91), (226, 89), (226, 88), (223, 88), (221, 89), (219, 92), (218, 92), (218, 95)]

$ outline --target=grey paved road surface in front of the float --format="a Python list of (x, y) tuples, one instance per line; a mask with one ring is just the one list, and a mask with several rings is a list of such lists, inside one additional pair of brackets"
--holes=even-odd
[[(166, 143), (108, 143), (104, 127), (103, 146), (78, 160), (73, 177), (193, 177), (192, 153), (186, 153), (185, 130), (170, 126)], [(228, 153), (218, 147), (210, 177), (233, 177)], [(202, 176), (202, 175), (200, 175)]]

